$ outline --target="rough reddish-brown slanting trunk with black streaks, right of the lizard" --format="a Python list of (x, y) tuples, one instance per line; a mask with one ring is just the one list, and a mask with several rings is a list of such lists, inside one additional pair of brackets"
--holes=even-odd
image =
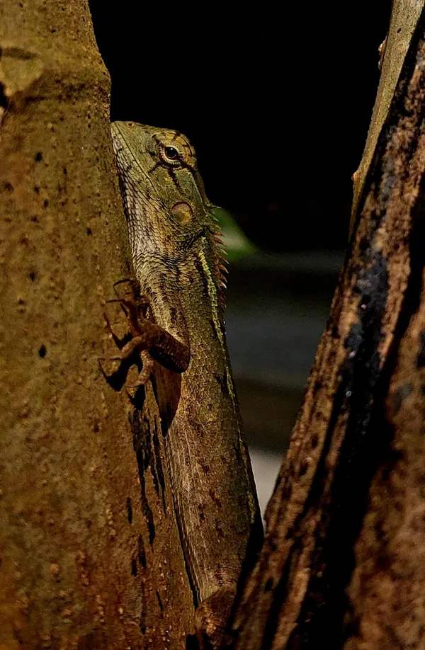
[(235, 647), (425, 648), (425, 15), (234, 621)]

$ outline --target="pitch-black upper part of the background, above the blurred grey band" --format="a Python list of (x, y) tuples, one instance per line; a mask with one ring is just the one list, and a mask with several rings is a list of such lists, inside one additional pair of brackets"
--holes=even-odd
[(89, 4), (112, 120), (185, 133), (263, 249), (345, 245), (390, 0)]

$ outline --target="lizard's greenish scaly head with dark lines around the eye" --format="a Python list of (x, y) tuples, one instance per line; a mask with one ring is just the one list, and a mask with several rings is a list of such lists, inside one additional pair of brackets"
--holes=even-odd
[(136, 274), (148, 258), (172, 268), (201, 256), (221, 287), (220, 229), (189, 140), (136, 122), (111, 131)]

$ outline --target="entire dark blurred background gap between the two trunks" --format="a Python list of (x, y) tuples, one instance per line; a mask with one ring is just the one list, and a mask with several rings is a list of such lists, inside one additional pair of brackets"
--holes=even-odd
[(344, 262), (391, 0), (89, 4), (111, 120), (185, 133), (239, 226), (226, 324), (264, 508)]

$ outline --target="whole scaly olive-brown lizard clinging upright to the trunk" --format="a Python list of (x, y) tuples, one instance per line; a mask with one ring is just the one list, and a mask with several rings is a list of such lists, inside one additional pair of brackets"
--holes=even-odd
[(178, 403), (162, 409), (167, 465), (198, 637), (219, 647), (247, 549), (263, 534), (226, 343), (220, 227), (184, 135), (136, 122), (111, 132), (135, 278), (152, 314), (132, 310), (120, 358), (136, 348), (142, 357), (133, 385), (146, 382), (152, 358), (181, 376)]

